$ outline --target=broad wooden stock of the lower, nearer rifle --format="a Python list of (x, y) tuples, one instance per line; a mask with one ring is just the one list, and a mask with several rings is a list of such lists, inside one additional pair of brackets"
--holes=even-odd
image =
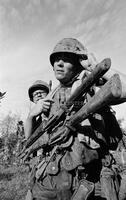
[(104, 86), (71, 118), (69, 125), (75, 125), (105, 106), (114, 105), (121, 97), (122, 85), (118, 74), (114, 74)]

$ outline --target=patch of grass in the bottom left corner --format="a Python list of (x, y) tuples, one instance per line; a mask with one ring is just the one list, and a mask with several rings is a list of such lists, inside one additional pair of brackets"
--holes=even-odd
[(28, 168), (0, 166), (0, 200), (24, 200), (28, 188)]

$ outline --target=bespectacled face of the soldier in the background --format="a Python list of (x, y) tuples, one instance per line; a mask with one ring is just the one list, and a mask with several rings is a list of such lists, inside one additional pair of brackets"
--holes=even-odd
[(47, 96), (47, 92), (42, 89), (35, 90), (32, 94), (33, 102), (37, 103), (40, 99), (44, 99)]

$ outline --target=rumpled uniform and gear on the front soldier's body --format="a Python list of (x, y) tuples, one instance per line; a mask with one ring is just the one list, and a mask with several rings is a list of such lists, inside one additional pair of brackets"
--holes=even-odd
[[(55, 114), (60, 106), (65, 103), (70, 95), (70, 91), (70, 86), (59, 87), (53, 97), (54, 103), (51, 107), (50, 116)], [(94, 124), (95, 131), (94, 127), (92, 128)], [(37, 169), (34, 171), (35, 182), (33, 181), (32, 194), (35, 199), (65, 200), (72, 198), (72, 195), (73, 199), (75, 199), (77, 197), (74, 191), (79, 187), (81, 180), (89, 181), (90, 184), (93, 183), (91, 185), (91, 189), (93, 188), (92, 193), (105, 198), (106, 194), (104, 194), (103, 189), (101, 190), (100, 177), (103, 180), (105, 174), (109, 178), (110, 176), (116, 176), (111, 169), (112, 157), (109, 155), (105, 144), (106, 140), (103, 137), (105, 136), (103, 118), (97, 113), (90, 120), (83, 122), (82, 127), (83, 134), (82, 132), (76, 134), (73, 144), (70, 145), (68, 150), (64, 149), (62, 152), (57, 153), (53, 161), (49, 162), (45, 169), (44, 177), (40, 177)], [(83, 137), (79, 137), (80, 135)], [(51, 153), (43, 158), (43, 166), (44, 162), (48, 162)], [(114, 185), (111, 189), (117, 191)]]

